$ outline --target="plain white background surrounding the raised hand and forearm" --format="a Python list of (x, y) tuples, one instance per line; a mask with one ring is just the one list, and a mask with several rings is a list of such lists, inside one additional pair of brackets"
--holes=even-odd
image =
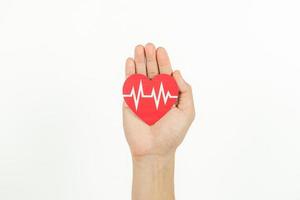
[(298, 0), (0, 1), (0, 199), (130, 199), (124, 61), (169, 50), (197, 117), (182, 200), (300, 199)]

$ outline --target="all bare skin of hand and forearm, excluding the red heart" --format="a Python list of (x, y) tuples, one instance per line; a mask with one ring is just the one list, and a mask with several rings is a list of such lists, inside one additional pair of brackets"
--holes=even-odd
[(175, 152), (195, 118), (192, 88), (179, 71), (173, 72), (167, 51), (152, 43), (137, 45), (134, 58), (126, 60), (126, 78), (135, 73), (150, 79), (172, 75), (180, 94), (178, 104), (152, 126), (123, 104), (123, 127), (133, 160), (132, 199), (173, 200)]

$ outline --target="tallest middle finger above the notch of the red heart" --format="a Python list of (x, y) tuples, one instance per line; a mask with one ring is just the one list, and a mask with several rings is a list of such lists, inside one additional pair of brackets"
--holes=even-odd
[(158, 74), (158, 66), (156, 61), (156, 50), (155, 46), (152, 43), (148, 43), (145, 46), (146, 54), (146, 66), (147, 66), (147, 75), (149, 78), (153, 78)]

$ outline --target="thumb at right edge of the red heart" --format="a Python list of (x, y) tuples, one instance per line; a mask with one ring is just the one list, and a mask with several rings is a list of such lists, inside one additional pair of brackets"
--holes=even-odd
[(179, 71), (175, 71), (173, 73), (173, 77), (178, 85), (179, 88), (179, 101), (178, 101), (178, 108), (181, 110), (194, 110), (194, 103), (193, 103), (193, 94), (191, 86), (183, 79), (181, 73)]

